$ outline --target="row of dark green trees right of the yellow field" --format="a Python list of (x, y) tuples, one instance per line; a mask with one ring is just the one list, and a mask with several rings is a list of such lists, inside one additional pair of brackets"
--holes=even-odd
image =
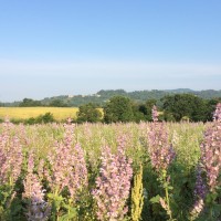
[(104, 122), (104, 123), (127, 123), (127, 122), (150, 122), (151, 108), (157, 105), (159, 119), (166, 122), (211, 122), (212, 113), (220, 98), (203, 99), (191, 94), (168, 95), (157, 102), (148, 99), (146, 103), (135, 103), (125, 96), (112, 97), (101, 110), (93, 103), (80, 106), (77, 122)]

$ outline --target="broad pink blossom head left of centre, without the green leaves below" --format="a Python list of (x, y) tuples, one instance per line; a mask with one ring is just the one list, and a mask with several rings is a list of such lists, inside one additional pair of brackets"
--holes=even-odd
[(49, 155), (51, 171), (45, 170), (52, 191), (61, 193), (67, 187), (71, 198), (76, 200), (77, 192), (87, 187), (87, 168), (84, 151), (78, 144), (73, 146), (74, 125), (64, 125), (64, 143), (56, 143)]

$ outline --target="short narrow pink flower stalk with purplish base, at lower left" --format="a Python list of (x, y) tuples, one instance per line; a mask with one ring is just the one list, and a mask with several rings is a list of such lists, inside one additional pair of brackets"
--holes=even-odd
[(45, 190), (38, 175), (33, 173), (34, 158), (31, 152), (28, 160), (28, 175), (23, 182), (23, 199), (27, 201), (27, 219), (30, 221), (46, 221), (51, 213), (51, 207), (45, 202)]

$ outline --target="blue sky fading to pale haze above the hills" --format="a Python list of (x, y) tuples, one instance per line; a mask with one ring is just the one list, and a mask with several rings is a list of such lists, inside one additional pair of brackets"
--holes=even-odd
[(0, 0), (0, 102), (221, 90), (220, 0)]

